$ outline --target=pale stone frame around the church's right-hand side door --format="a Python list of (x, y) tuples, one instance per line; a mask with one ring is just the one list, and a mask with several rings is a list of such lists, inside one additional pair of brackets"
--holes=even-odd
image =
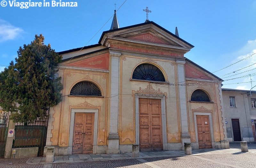
[(213, 123), (212, 123), (212, 113), (194, 112), (194, 122), (195, 122), (195, 132), (196, 132), (196, 149), (199, 149), (196, 115), (208, 115), (208, 117), (209, 117), (209, 125), (210, 125), (210, 132), (211, 132), (212, 148), (215, 148), (214, 133), (213, 133)]

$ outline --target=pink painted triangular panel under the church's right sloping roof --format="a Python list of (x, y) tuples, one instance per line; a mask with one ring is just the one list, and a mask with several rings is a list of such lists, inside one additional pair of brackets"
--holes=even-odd
[(212, 79), (208, 75), (203, 74), (202, 72), (188, 65), (187, 63), (185, 63), (185, 71), (186, 71), (186, 77), (188, 78)]

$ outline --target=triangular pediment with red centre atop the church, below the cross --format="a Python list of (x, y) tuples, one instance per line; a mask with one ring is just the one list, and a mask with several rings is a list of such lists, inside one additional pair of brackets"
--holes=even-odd
[(185, 54), (194, 46), (167, 31), (163, 27), (154, 22), (148, 22), (102, 33), (99, 41), (102, 45), (110, 47), (110, 45), (127, 44), (140, 45), (141, 47), (163, 48), (177, 50), (177, 53)]

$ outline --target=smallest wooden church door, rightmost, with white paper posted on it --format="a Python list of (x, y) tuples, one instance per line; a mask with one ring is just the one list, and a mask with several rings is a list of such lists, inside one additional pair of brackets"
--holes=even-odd
[(196, 115), (196, 125), (199, 149), (212, 148), (209, 116)]

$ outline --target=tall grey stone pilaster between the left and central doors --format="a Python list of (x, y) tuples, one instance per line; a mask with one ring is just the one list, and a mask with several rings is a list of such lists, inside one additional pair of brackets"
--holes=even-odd
[(108, 134), (108, 150), (107, 154), (120, 153), (119, 150), (119, 135), (118, 129), (118, 107), (119, 107), (119, 57), (121, 54), (111, 54), (111, 69), (110, 69), (110, 126)]

